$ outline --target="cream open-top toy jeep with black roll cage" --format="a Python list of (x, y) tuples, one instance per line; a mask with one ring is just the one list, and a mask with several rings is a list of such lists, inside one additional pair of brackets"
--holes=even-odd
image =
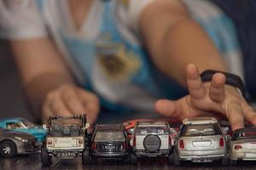
[(86, 116), (49, 116), (47, 134), (42, 145), (41, 162), (49, 166), (51, 156), (61, 159), (72, 159), (82, 156), (83, 164), (87, 164), (90, 155), (87, 148), (88, 136)]

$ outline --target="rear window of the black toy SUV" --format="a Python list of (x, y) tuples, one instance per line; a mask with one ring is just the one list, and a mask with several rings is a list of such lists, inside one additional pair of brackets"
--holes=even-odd
[(97, 142), (113, 142), (113, 141), (124, 141), (125, 135), (122, 131), (116, 132), (97, 132), (95, 141)]

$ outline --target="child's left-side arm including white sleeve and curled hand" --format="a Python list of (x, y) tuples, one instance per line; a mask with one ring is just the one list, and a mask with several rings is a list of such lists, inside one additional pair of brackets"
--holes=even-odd
[[(73, 81), (62, 56), (50, 39), (35, 1), (0, 0), (0, 34), (10, 40), (33, 111), (49, 115), (88, 113), (94, 122), (99, 102)], [(88, 111), (88, 112), (87, 112)], [(38, 117), (39, 118), (39, 117)]]

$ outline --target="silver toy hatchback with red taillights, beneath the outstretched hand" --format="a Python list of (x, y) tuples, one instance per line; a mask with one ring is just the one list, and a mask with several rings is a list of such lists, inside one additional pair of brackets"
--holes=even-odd
[(177, 143), (173, 151), (173, 163), (180, 161), (207, 162), (221, 160), (223, 165), (229, 162), (227, 140), (212, 117), (194, 117), (183, 119), (177, 134)]

